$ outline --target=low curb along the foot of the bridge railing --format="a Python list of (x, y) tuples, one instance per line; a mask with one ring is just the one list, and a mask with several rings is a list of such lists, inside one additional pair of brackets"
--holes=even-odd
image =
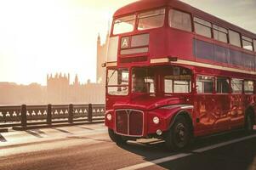
[(37, 128), (48, 128), (48, 127), (69, 127), (69, 126), (76, 126), (76, 125), (84, 125), (84, 124), (97, 124), (103, 123), (105, 121), (95, 121), (95, 122), (75, 122), (75, 123), (59, 123), (59, 124), (40, 124), (40, 125), (28, 125), (26, 127), (23, 126), (14, 126), (13, 129), (16, 131), (25, 131), (30, 129), (37, 129)]

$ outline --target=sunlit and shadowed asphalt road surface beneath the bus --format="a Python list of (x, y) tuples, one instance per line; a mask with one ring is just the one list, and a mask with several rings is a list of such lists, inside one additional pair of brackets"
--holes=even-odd
[(161, 141), (117, 146), (103, 124), (0, 134), (0, 170), (55, 169), (256, 169), (256, 133), (196, 139), (170, 152)]

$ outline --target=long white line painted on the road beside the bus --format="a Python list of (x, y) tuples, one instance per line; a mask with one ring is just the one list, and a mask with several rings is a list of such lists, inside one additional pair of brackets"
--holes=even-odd
[(201, 153), (201, 152), (204, 152), (204, 151), (207, 151), (207, 150), (213, 150), (215, 148), (219, 148), (219, 147), (222, 147), (222, 146), (225, 146), (225, 145), (228, 145), (228, 144), (234, 144), (234, 143), (237, 143), (237, 142), (241, 142), (241, 141), (246, 140), (246, 139), (253, 139), (255, 137), (256, 137), (256, 134), (253, 134), (253, 135), (250, 135), (250, 136), (247, 136), (247, 137), (243, 137), (241, 139), (234, 139), (234, 140), (230, 140), (230, 141), (227, 141), (227, 142), (222, 142), (222, 143), (219, 143), (219, 144), (213, 144), (213, 145), (210, 145), (210, 146), (206, 146), (206, 147), (203, 147), (203, 148), (200, 148), (200, 149), (197, 149), (197, 150), (192, 150), (191, 151), (192, 153), (179, 153), (179, 154), (174, 155), (174, 156), (163, 157), (163, 158), (156, 159), (156, 160), (153, 160), (153, 161), (146, 161), (144, 163), (139, 163), (139, 164), (136, 164), (136, 165), (133, 165), (133, 166), (123, 167), (123, 168), (118, 169), (118, 170), (135, 170), (135, 169), (140, 169), (140, 168), (144, 168), (144, 167), (150, 167), (150, 166), (157, 165), (157, 164), (160, 164), (160, 163), (163, 163), (163, 162), (166, 162), (166, 161), (174, 161), (174, 160), (177, 160), (179, 158), (183, 158), (185, 156), (195, 155), (195, 153)]

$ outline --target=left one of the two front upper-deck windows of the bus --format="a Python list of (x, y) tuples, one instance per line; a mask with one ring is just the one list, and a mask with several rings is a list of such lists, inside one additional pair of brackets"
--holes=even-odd
[(122, 34), (130, 31), (134, 31), (135, 15), (129, 15), (114, 20), (113, 34)]

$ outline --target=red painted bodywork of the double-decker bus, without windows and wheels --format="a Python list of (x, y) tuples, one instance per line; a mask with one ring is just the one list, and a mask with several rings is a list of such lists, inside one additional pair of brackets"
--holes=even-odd
[[(138, 25), (138, 14), (157, 8), (165, 8), (165, 23), (164, 26), (159, 28), (153, 28), (148, 30), (139, 31), (134, 28), (134, 31), (126, 32), (122, 34), (113, 34), (114, 21), (128, 14), (136, 14), (135, 26)], [(129, 4), (126, 7), (120, 8), (114, 14), (114, 21), (111, 29), (111, 37), (118, 39), (117, 49), (117, 61), (111, 66), (107, 66), (107, 71), (110, 69), (128, 69), (128, 94), (122, 96), (116, 96), (108, 94), (108, 87), (106, 86), (106, 113), (105, 113), (105, 125), (118, 133), (117, 120), (120, 117), (128, 119), (129, 116), (123, 116), (123, 112), (137, 111), (132, 113), (139, 117), (139, 111), (143, 113), (143, 122), (129, 122), (127, 126), (143, 123), (143, 133), (136, 137), (147, 137), (151, 134), (156, 134), (156, 130), (161, 130), (163, 133), (168, 132), (171, 125), (175, 121), (175, 117), (180, 112), (184, 112), (191, 116), (191, 122), (193, 126), (193, 135), (202, 136), (212, 133), (224, 132), (230, 129), (244, 127), (245, 116), (247, 111), (253, 111), (254, 122), (256, 122), (256, 65), (254, 67), (247, 67), (244, 63), (241, 65), (233, 65), (230, 59), (234, 56), (231, 55), (232, 51), (241, 55), (241, 58), (247, 55), (254, 56), (256, 58), (255, 50), (249, 51), (244, 48), (238, 48), (230, 43), (219, 42), (210, 37), (203, 37), (196, 34), (193, 20), (192, 31), (182, 31), (176, 28), (172, 28), (168, 24), (168, 11), (170, 8), (178, 9), (187, 14), (191, 14), (191, 20), (193, 17), (199, 17), (203, 20), (208, 20), (212, 24), (223, 26), (240, 32), (241, 35), (256, 39), (256, 35), (250, 31), (234, 26), (225, 20), (220, 20), (211, 14), (206, 14), (201, 10), (193, 8), (185, 3), (174, 0), (142, 0), (136, 3)], [(212, 32), (213, 33), (213, 32)], [(147, 52), (142, 53), (130, 53), (122, 54), (122, 50), (131, 49), (133, 47), (121, 48), (122, 38), (128, 37), (129, 43), (132, 39), (138, 35), (149, 35), (149, 43), (142, 48), (148, 48)], [(204, 48), (210, 48), (205, 51), (206, 55), (212, 55), (213, 59), (203, 59), (198, 57), (198, 50)], [(141, 48), (141, 47), (139, 47)], [(225, 56), (228, 62), (219, 62), (215, 59), (216, 48), (221, 48), (227, 51)], [(243, 57), (243, 59), (247, 59)], [(242, 60), (243, 62), (243, 60)], [(256, 63), (256, 62), (255, 62)], [(162, 67), (162, 69), (159, 69)], [(165, 93), (165, 76), (168, 71), (173, 71), (177, 68), (180, 70), (188, 69), (191, 71), (191, 91), (187, 93)], [(155, 88), (154, 93), (138, 94), (133, 92), (133, 78), (134, 68), (152, 68), (154, 72)], [(154, 70), (154, 68), (156, 68)], [(153, 73), (152, 73), (153, 74)], [(175, 73), (176, 74), (176, 73)], [(177, 75), (168, 75), (173, 78)], [(109, 76), (109, 75), (107, 75)], [(152, 76), (152, 75), (151, 75)], [(179, 75), (180, 76), (180, 75)], [(184, 75), (181, 75), (181, 77)], [(213, 92), (212, 93), (198, 93), (197, 77), (213, 77)], [(217, 92), (217, 79), (219, 77), (226, 78), (229, 83), (229, 91), (226, 93)], [(151, 77), (152, 78), (152, 77)], [(242, 80), (242, 92), (241, 94), (235, 94), (232, 92), (231, 80)], [(244, 89), (245, 81), (253, 82), (253, 92), (246, 94)], [(150, 83), (150, 82), (147, 82)], [(178, 80), (178, 84), (179, 84)], [(106, 82), (108, 84), (108, 81)], [(125, 83), (124, 83), (125, 84)], [(173, 86), (174, 86), (173, 82)], [(123, 84), (121, 84), (123, 85)], [(147, 84), (149, 85), (149, 84)], [(122, 87), (119, 87), (120, 89)], [(192, 107), (192, 108), (190, 108)], [(189, 109), (188, 109), (189, 108)], [(120, 111), (120, 113), (117, 113)], [(111, 121), (107, 119), (107, 115), (110, 114)], [(118, 116), (118, 114), (120, 114)], [(153, 122), (154, 117), (157, 116), (160, 119), (159, 124)], [(139, 118), (138, 118), (139, 119)], [(138, 126), (140, 126), (140, 124)], [(137, 126), (137, 125), (136, 125)], [(126, 128), (128, 128), (126, 127)], [(122, 129), (121, 129), (122, 130)], [(127, 129), (126, 129), (127, 130)], [(134, 130), (134, 129), (132, 129)], [(129, 131), (129, 130), (128, 130)], [(123, 136), (133, 136), (128, 133), (120, 133)]]

